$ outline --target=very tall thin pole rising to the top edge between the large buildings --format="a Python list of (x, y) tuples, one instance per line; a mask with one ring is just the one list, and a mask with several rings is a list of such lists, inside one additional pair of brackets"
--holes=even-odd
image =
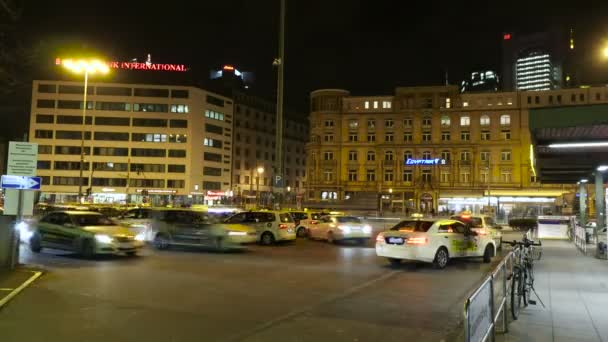
[(275, 170), (275, 187), (279, 192), (279, 205), (283, 199), (283, 88), (285, 71), (285, 0), (281, 0), (279, 18), (279, 57), (275, 59), (274, 65), (278, 67), (277, 72), (277, 128), (276, 128), (276, 155), (277, 163)]

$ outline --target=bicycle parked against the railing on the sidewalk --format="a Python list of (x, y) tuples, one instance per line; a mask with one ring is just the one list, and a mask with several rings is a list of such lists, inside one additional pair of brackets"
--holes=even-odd
[(515, 263), (513, 264), (513, 273), (511, 274), (511, 316), (513, 320), (519, 317), (519, 311), (523, 302), (524, 306), (528, 304), (536, 305), (536, 301), (530, 299), (530, 294), (534, 292), (543, 307), (542, 302), (536, 290), (534, 289), (534, 268), (533, 268), (533, 253), (538, 253), (536, 259), (540, 259), (542, 251), (534, 250), (534, 246), (542, 246), (540, 242), (536, 243), (524, 235), (522, 241), (503, 241), (502, 243), (509, 244), (512, 247), (519, 247), (515, 250)]

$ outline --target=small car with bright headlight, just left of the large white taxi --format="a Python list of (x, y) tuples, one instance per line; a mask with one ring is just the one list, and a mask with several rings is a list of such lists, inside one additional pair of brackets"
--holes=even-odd
[(311, 239), (327, 240), (329, 243), (343, 240), (354, 240), (360, 244), (372, 236), (372, 227), (364, 224), (358, 217), (346, 215), (325, 215), (319, 223), (308, 230)]

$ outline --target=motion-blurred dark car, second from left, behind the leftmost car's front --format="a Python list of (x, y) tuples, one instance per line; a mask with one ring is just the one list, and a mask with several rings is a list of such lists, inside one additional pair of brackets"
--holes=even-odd
[(205, 213), (189, 210), (156, 211), (152, 222), (153, 244), (157, 249), (170, 246), (212, 247), (218, 251), (241, 248), (257, 241), (257, 232), (242, 224), (222, 223)]

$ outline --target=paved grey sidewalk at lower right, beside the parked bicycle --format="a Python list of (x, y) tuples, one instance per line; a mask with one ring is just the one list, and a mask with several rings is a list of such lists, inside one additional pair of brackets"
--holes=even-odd
[(608, 342), (608, 261), (586, 256), (568, 241), (543, 241), (534, 274), (546, 308), (538, 300), (522, 308), (497, 341)]

